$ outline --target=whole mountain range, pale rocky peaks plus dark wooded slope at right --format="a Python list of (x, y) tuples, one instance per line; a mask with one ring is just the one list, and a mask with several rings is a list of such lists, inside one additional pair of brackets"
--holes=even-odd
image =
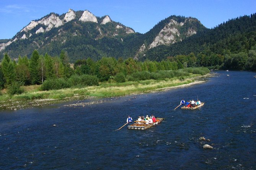
[[(213, 29), (207, 29), (196, 18), (172, 15), (140, 34), (108, 15), (97, 17), (88, 10), (70, 9), (61, 15), (50, 13), (31, 21), (10, 40), (0, 40), (0, 52), (18, 58), (30, 57), (33, 50), (51, 56), (64, 50), (71, 63), (86, 58), (97, 61), (104, 56), (161, 61), (190, 53), (197, 58), (202, 53), (248, 53), (255, 44), (256, 14), (230, 19)], [(210, 61), (203, 65), (209, 64)]]

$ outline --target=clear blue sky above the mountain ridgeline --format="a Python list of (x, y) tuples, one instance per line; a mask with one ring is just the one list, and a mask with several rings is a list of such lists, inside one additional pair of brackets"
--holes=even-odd
[(0, 39), (12, 38), (31, 20), (54, 12), (89, 10), (95, 16), (145, 33), (171, 15), (199, 19), (213, 28), (228, 19), (256, 13), (256, 0), (0, 0)]

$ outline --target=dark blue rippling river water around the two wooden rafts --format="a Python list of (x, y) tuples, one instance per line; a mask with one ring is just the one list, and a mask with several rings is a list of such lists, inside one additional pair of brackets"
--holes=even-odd
[[(256, 169), (256, 73), (213, 73), (189, 87), (2, 111), (0, 169)], [(182, 98), (205, 105), (174, 110)], [(164, 120), (115, 131), (151, 114)]]

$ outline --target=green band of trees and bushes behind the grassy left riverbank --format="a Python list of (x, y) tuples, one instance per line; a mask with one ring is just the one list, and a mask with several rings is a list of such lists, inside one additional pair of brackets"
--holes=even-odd
[[(0, 89), (13, 88), (13, 93), (19, 93), (18, 87), (21, 85), (40, 85), (45, 82), (47, 84), (50, 80), (57, 79), (64, 81), (69, 79), (73, 84), (78, 82), (83, 84), (86, 80), (90, 80), (83, 85), (91, 85), (90, 82), (95, 82), (93, 85), (97, 85), (98, 82), (114, 79), (116, 82), (124, 82), (124, 77), (136, 72), (169, 71), (183, 67), (184, 65), (180, 62), (170, 59), (161, 62), (149, 60), (141, 62), (132, 58), (124, 60), (113, 57), (103, 57), (98, 61), (91, 58), (79, 59), (72, 67), (65, 51), (61, 51), (59, 56), (52, 57), (47, 53), (40, 55), (37, 50), (34, 50), (30, 59), (27, 56), (19, 56), (17, 61), (5, 53), (0, 65)], [(15, 92), (15, 89), (18, 92)]]

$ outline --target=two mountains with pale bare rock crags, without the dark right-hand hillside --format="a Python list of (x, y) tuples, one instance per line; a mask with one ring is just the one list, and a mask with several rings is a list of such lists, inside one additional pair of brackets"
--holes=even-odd
[(71, 61), (89, 57), (98, 60), (103, 56), (138, 59), (148, 49), (181, 42), (204, 29), (195, 18), (170, 16), (140, 34), (108, 15), (96, 17), (88, 10), (70, 9), (62, 15), (50, 13), (31, 21), (8, 42), (2, 40), (0, 52), (7, 52), (11, 58), (30, 56), (36, 49), (51, 56), (65, 50)]

